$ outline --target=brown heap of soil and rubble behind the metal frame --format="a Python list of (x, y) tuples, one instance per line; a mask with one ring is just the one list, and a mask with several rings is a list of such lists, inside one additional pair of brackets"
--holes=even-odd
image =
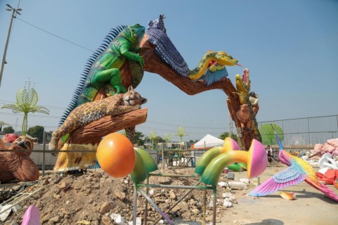
[[(166, 169), (165, 169), (166, 170)], [(170, 169), (164, 174), (193, 174), (190, 169)], [(150, 184), (195, 185), (199, 178), (151, 176)], [(30, 205), (40, 210), (42, 224), (128, 224), (133, 216), (134, 184), (130, 176), (115, 179), (101, 169), (91, 170), (86, 174), (49, 174), (25, 192), (32, 193), (42, 188), (31, 198), (20, 203), (17, 212), (11, 212), (4, 224), (21, 224), (23, 214)], [(161, 208), (168, 210), (184, 193), (190, 189), (149, 188), (149, 196)], [(8, 191), (8, 190), (7, 190)], [(144, 188), (145, 191), (145, 188)], [(207, 191), (206, 219), (212, 221), (212, 191)], [(194, 190), (187, 195), (168, 214), (171, 219), (182, 221), (202, 221), (204, 191)], [(220, 220), (228, 207), (237, 200), (229, 188), (218, 186), (216, 219)], [(145, 200), (142, 195), (137, 198), (138, 221), (144, 219)], [(156, 210), (148, 206), (148, 219), (155, 221), (160, 217)], [(160, 223), (160, 222), (159, 222)], [(1, 222), (0, 222), (1, 224)], [(200, 223), (198, 223), (200, 224)]]

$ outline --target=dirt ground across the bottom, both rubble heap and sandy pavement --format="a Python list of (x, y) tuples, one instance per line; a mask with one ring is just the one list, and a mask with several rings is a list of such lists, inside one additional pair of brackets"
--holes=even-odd
[[(260, 176), (263, 182), (286, 166), (272, 166), (265, 169)], [(158, 170), (161, 172), (161, 169)], [(194, 169), (165, 168), (165, 174), (193, 174)], [(246, 178), (246, 172), (232, 172), (234, 180)], [(152, 184), (194, 185), (198, 178), (151, 177)], [(227, 181), (221, 177), (220, 181)], [(338, 190), (329, 186), (335, 193)], [(38, 188), (42, 188), (37, 191)], [(285, 200), (280, 191), (261, 198), (254, 198), (246, 190), (218, 187), (218, 206), (216, 224), (338, 224), (338, 203), (325, 197), (323, 193), (302, 182), (296, 186), (284, 188), (283, 191), (294, 192), (296, 200)], [(0, 186), (0, 202), (20, 191), (31, 193), (32, 198), (24, 200), (18, 212), (11, 212), (0, 224), (21, 224), (23, 214), (29, 205), (40, 210), (42, 224), (118, 224), (113, 215), (120, 215), (126, 221), (132, 221), (134, 188), (130, 177), (114, 179), (101, 169), (90, 169), (85, 174), (54, 174), (51, 172), (39, 182), (33, 184), (8, 184)], [(149, 195), (163, 210), (167, 210), (187, 190), (150, 188)], [(225, 207), (223, 195), (232, 196), (232, 206)], [(5, 196), (6, 195), (6, 196)], [(18, 196), (18, 195), (17, 195)], [(212, 193), (207, 194), (207, 224), (212, 221)], [(170, 211), (169, 217), (176, 224), (202, 224), (203, 191), (193, 191), (179, 205)], [(137, 217), (144, 219), (144, 198), (139, 194), (137, 200)], [(154, 221), (159, 214), (149, 206), (148, 218)], [(143, 222), (142, 222), (143, 223)], [(122, 224), (122, 223), (120, 223)], [(160, 224), (158, 222), (157, 224)]]

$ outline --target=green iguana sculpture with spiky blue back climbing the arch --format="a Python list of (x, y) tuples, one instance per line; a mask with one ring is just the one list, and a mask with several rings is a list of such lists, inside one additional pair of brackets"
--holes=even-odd
[[(127, 86), (123, 86), (120, 69), (126, 60), (137, 62), (144, 66), (142, 56), (137, 54), (139, 43), (144, 35), (145, 28), (139, 24), (116, 27), (104, 39), (104, 44), (89, 58), (82, 79), (75, 90), (65, 115), (61, 117), (62, 125), (69, 113), (78, 105), (93, 101), (99, 89), (105, 88), (106, 96), (125, 93)], [(143, 76), (143, 70), (142, 70)], [(133, 86), (135, 87), (135, 86)]]

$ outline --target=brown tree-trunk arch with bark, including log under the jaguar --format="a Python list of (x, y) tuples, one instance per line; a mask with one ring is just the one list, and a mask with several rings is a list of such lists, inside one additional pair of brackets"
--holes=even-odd
[[(255, 124), (257, 124), (254, 114), (251, 114), (250, 116), (251, 122), (246, 122), (246, 124), (250, 124), (249, 126), (243, 126), (243, 122), (241, 122), (241, 120), (239, 120), (239, 117), (237, 117), (237, 112), (239, 111), (239, 109), (241, 109), (241, 105), (243, 105), (244, 103), (243, 101), (241, 101), (241, 95), (238, 94), (239, 90), (234, 87), (230, 79), (224, 78), (220, 82), (215, 82), (210, 86), (206, 86), (204, 82), (192, 82), (191, 79), (178, 75), (177, 72), (170, 68), (169, 65), (164, 63), (163, 60), (161, 60), (161, 58), (159, 58), (154, 52), (154, 46), (150, 44), (149, 41), (144, 41), (140, 47), (140, 55), (144, 58), (145, 62), (143, 69), (147, 72), (154, 72), (158, 75), (161, 75), (161, 77), (168, 80), (168, 82), (171, 82), (185, 93), (189, 95), (194, 95), (199, 94), (202, 91), (208, 91), (212, 89), (220, 89), (225, 92), (225, 94), (227, 94), (227, 106), (229, 108), (232, 120), (237, 127), (239, 146), (241, 146), (242, 149), (249, 149), (251, 140), (253, 138), (261, 141), (259, 133), (258, 135), (256, 135), (256, 133), (253, 132), (253, 128), (256, 126)], [(127, 70), (123, 70), (123, 73), (125, 72), (127, 72)], [(104, 98), (104, 96), (104, 91), (102, 91), (101, 89), (101, 91), (99, 91), (99, 94), (97, 94), (94, 98), (94, 101)], [(249, 103), (248, 108), (251, 112), (251, 105)], [(59, 141), (58, 149), (77, 150), (80, 148), (79, 145), (85, 146), (87, 144), (96, 146), (103, 136), (106, 136), (107, 134), (113, 133), (115, 131), (119, 131), (120, 129), (134, 129), (137, 124), (141, 124), (145, 121), (146, 109), (134, 110), (130, 113), (125, 113), (116, 117), (106, 116), (73, 131), (70, 139), (68, 139), (68, 141), (66, 142), (67, 146), (63, 147), (62, 141)], [(258, 129), (256, 130), (258, 131)], [(95, 150), (96, 147), (88, 147), (87, 149)], [(90, 160), (87, 160), (87, 162), (84, 162), (86, 158), (83, 154), (73, 155), (71, 159), (69, 155), (65, 155), (68, 154), (61, 153), (59, 155), (56, 163), (58, 167), (54, 167), (54, 170), (60, 171), (70, 167), (77, 167), (81, 169), (81, 165), (90, 165), (94, 162), (94, 156), (91, 157)]]

